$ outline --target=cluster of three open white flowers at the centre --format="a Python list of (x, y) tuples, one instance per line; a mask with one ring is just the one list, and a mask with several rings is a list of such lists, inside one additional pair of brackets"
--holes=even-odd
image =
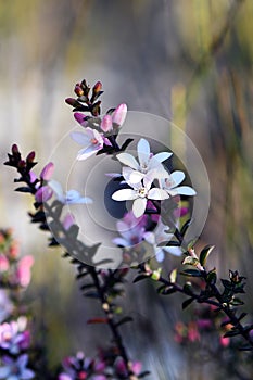
[[(148, 200), (164, 201), (178, 194), (195, 194), (189, 186), (178, 187), (185, 179), (182, 172), (169, 174), (162, 165), (172, 153), (153, 154), (143, 138), (137, 144), (137, 152), (139, 162), (129, 153), (117, 154), (117, 160), (124, 165), (122, 176), (128, 188), (117, 190), (112, 195), (114, 201), (134, 200), (132, 212), (137, 218), (146, 213)], [(155, 180), (159, 186), (154, 185)]]

